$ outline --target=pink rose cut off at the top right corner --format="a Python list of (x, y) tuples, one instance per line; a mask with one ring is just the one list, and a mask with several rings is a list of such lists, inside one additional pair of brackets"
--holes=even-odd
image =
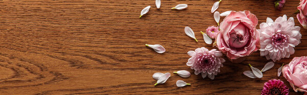
[(299, 23), (304, 27), (304, 29), (307, 29), (307, 19), (306, 19), (306, 15), (307, 15), (307, 0), (301, 0), (301, 2), (299, 3), (299, 6), (297, 7), (297, 9), (299, 10), (299, 14), (296, 15)]

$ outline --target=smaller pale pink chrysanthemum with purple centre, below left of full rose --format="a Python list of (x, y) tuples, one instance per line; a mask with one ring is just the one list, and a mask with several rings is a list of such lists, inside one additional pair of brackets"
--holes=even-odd
[(188, 60), (187, 65), (194, 69), (195, 75), (202, 73), (202, 77), (208, 76), (211, 80), (217, 73), (220, 73), (220, 67), (223, 67), (225, 59), (221, 58), (222, 53), (212, 49), (209, 51), (205, 47), (196, 49), (195, 51), (189, 51), (188, 55), (191, 58)]

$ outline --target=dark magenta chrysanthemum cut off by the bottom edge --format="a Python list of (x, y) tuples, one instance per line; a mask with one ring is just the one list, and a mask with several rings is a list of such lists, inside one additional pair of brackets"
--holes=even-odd
[(261, 91), (261, 95), (273, 95), (273, 94), (281, 94), (281, 95), (288, 95), (289, 88), (284, 85), (281, 80), (269, 80), (265, 83), (264, 89)]

